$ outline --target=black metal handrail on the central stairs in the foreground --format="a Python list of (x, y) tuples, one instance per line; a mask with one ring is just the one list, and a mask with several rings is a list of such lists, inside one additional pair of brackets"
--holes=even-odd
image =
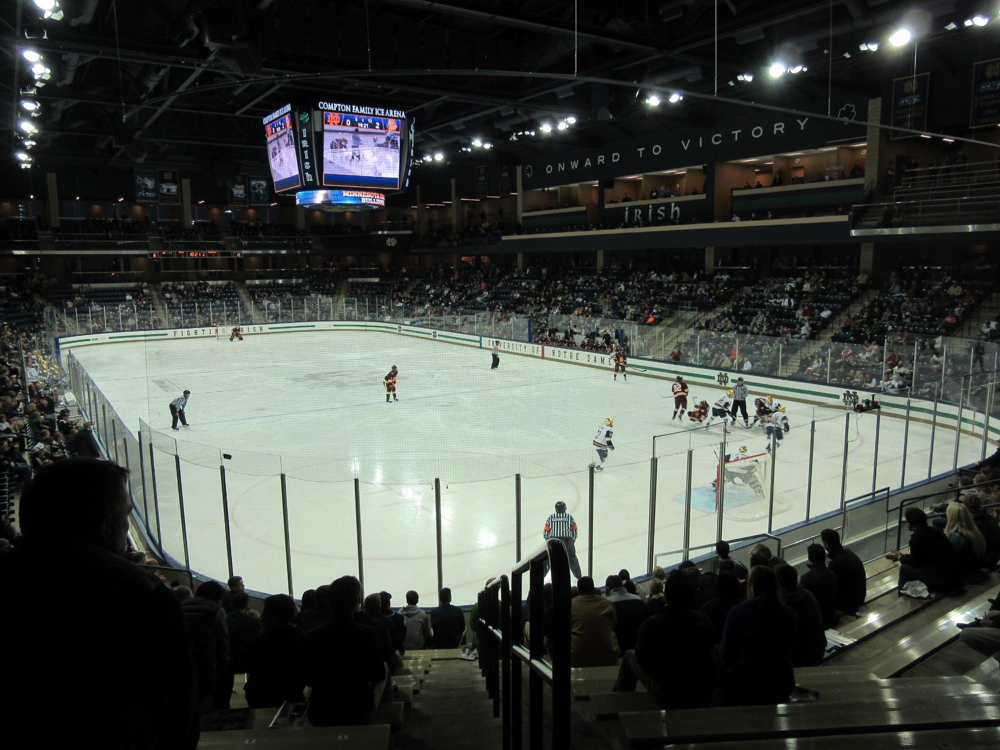
[[(550, 664), (545, 660), (545, 613), (543, 589), (545, 586), (546, 565), (552, 570), (552, 626), (556, 634), (549, 643)], [(521, 592), (522, 576), (528, 573), (528, 592), (530, 606), (528, 622), (531, 625), (532, 639), (528, 648), (523, 645), (524, 623), (521, 622)], [(513, 668), (512, 657), (527, 665), (529, 669), (528, 683), (528, 747), (540, 750), (543, 744), (553, 750), (569, 750), (570, 747), (570, 570), (569, 555), (566, 547), (558, 539), (549, 539), (534, 552), (520, 560), (511, 571), (513, 581), (512, 591), (504, 600), (506, 576), (499, 576), (485, 587), (479, 594), (480, 625), (483, 634), (489, 635), (480, 642), (482, 648), (486, 645), (485, 667), (481, 668), (488, 675), (487, 689), (492, 690), (494, 700), (494, 716), (497, 714), (497, 701), (500, 700), (504, 716), (504, 750), (519, 750), (521, 747), (521, 713), (522, 713), (522, 674), (521, 666)], [(500, 590), (499, 612), (497, 611), (496, 591)], [(496, 641), (500, 641), (499, 652), (494, 650)], [(498, 668), (497, 659), (501, 659)], [(503, 675), (503, 692), (497, 690), (497, 681)], [(552, 737), (544, 743), (543, 712), (545, 683), (552, 688)], [(507, 724), (509, 715), (509, 726)]]

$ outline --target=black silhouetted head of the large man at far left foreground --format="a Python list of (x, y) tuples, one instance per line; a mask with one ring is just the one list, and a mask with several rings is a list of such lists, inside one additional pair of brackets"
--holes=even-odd
[(35, 472), (21, 492), (25, 537), (68, 537), (119, 554), (128, 547), (128, 471), (111, 461), (67, 458)]

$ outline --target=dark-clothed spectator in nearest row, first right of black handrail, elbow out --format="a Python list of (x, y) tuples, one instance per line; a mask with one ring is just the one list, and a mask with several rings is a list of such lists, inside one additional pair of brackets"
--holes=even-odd
[(616, 692), (642, 682), (663, 709), (707, 708), (715, 687), (712, 622), (692, 607), (694, 590), (683, 572), (667, 577), (665, 609), (639, 629), (634, 650), (625, 652)]

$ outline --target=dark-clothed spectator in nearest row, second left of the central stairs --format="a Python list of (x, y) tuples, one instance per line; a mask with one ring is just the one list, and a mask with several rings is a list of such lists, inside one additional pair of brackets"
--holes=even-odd
[(295, 600), (288, 594), (267, 597), (261, 617), (263, 632), (251, 638), (237, 656), (237, 669), (246, 672), (243, 690), (250, 708), (303, 699), (306, 636), (293, 624), (295, 614)]

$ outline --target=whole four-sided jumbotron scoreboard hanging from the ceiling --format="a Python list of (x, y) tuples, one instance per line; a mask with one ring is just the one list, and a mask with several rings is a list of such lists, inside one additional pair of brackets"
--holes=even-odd
[(291, 103), (263, 118), (276, 193), (333, 211), (385, 206), (409, 187), (414, 123), (393, 107)]

